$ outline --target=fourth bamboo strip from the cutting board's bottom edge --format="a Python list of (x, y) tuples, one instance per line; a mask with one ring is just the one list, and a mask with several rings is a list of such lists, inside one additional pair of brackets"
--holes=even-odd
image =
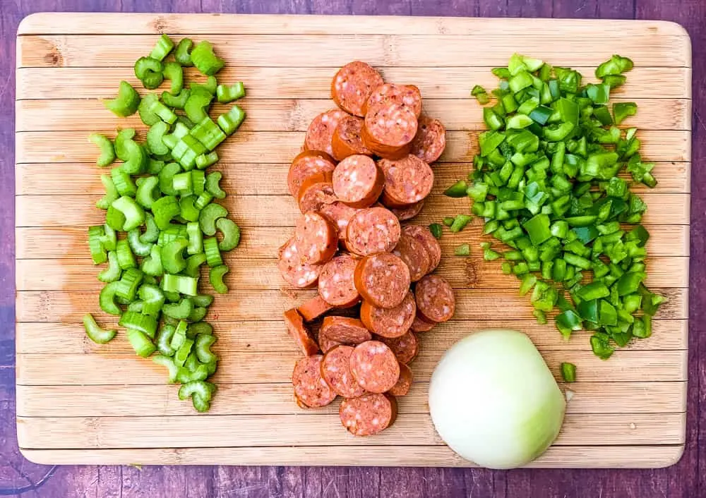
[[(472, 330), (467, 329), (465, 332), (468, 334)], [(282, 340), (287, 339), (284, 330), (280, 330), (279, 334)], [(587, 337), (582, 339), (586, 340)], [(127, 339), (123, 337), (121, 340)], [(217, 345), (214, 345), (213, 351), (219, 352)], [(422, 346), (419, 356), (412, 365), (415, 378), (421, 381), (429, 380), (442, 354), (443, 351), (439, 349), (426, 349)], [(686, 350), (625, 350), (614, 353), (611, 361), (597, 362), (587, 351), (544, 351), (544, 359), (557, 377), (561, 375), (559, 364), (562, 361), (568, 361), (576, 365), (582, 379), (590, 382), (599, 382), (603, 379), (611, 379), (611, 382), (683, 381), (686, 380), (686, 356)], [(233, 384), (291, 382), (292, 368), (300, 357), (297, 351), (230, 352), (227, 358), (222, 358), (220, 361), (218, 371), (213, 376), (213, 382), (216, 384), (219, 382)], [(136, 358), (134, 353), (32, 354), (19, 356), (17, 365), (17, 383), (20, 385), (163, 384), (166, 375), (163, 367), (152, 363), (151, 360)], [(116, 375), (116, 372), (120, 372), (120, 375)]]

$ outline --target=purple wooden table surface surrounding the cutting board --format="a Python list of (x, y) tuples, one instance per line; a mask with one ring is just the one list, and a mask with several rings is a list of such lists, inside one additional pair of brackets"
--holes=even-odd
[[(690, 358), (686, 452), (657, 470), (306, 467), (59, 467), (20, 455), (15, 436), (13, 139), (15, 34), (36, 11), (397, 14), (674, 20), (693, 44)], [(706, 1), (704, 0), (0, 0), (0, 496), (702, 497), (706, 496)], [(701, 190), (704, 187), (705, 190)]]

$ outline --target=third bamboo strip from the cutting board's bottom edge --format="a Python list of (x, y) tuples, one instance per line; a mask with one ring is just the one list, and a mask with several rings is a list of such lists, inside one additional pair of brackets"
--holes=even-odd
[[(686, 382), (575, 382), (568, 386), (574, 395), (566, 406), (568, 413), (681, 413), (686, 396)], [(166, 417), (184, 415), (198, 417), (188, 403), (177, 399), (178, 387), (164, 384), (123, 386), (83, 386), (76, 396), (72, 386), (18, 386), (17, 415), (20, 417), (111, 417), (116, 404), (126, 417)], [(428, 382), (416, 382), (409, 394), (400, 399), (400, 415), (426, 413)], [(43, 399), (51, 398), (53, 405)], [(146, 404), (145, 399), (160, 400)], [(218, 385), (218, 403), (210, 415), (301, 415), (292, 403), (292, 384)], [(321, 408), (320, 413), (335, 415), (338, 403)]]

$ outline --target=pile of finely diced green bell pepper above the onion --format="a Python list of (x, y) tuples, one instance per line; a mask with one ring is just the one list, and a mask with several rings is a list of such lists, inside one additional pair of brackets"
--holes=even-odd
[[(611, 89), (632, 67), (614, 55), (596, 70), (602, 83), (582, 84), (578, 71), (513, 55), (508, 67), (493, 69), (500, 78), (494, 102), (483, 88), (472, 90), (492, 104), (483, 109), (490, 130), (479, 135), (468, 182), (445, 191), (470, 198), (472, 212), (486, 220), (484, 233), (510, 246), (503, 272), (520, 280), (520, 293), (531, 291), (537, 321), (559, 308), (561, 334), (593, 331), (590, 344), (602, 359), (633, 337), (650, 336), (664, 301), (644, 285), (650, 235), (640, 221), (647, 205), (620, 175), (654, 187), (654, 165), (642, 162), (636, 128), (617, 127), (637, 106), (609, 107)], [(467, 223), (459, 217), (444, 224), (454, 231)], [(486, 260), (501, 257), (491, 243), (481, 248)], [(564, 365), (571, 382), (575, 368)]]

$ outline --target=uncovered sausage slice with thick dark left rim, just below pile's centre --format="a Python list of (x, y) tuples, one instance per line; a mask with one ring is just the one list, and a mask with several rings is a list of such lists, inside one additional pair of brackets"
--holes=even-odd
[(395, 308), (409, 292), (409, 267), (390, 253), (377, 253), (359, 260), (354, 282), (363, 298), (378, 308)]

